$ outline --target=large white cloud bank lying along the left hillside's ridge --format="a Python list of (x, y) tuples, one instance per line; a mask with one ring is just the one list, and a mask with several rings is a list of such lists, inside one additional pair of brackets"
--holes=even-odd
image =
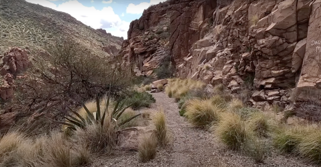
[(122, 21), (120, 17), (114, 13), (111, 7), (104, 7), (102, 10), (97, 10), (95, 7), (85, 7), (77, 0), (69, 0), (58, 6), (47, 0), (26, 1), (48, 7), (56, 11), (68, 13), (78, 21), (93, 29), (105, 29), (108, 33), (111, 33), (114, 36), (124, 37), (124, 39), (127, 39), (127, 31), (130, 23)]

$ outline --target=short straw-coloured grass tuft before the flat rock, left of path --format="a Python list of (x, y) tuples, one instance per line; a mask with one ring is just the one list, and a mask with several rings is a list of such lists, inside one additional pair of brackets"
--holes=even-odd
[(157, 137), (155, 134), (143, 135), (138, 144), (138, 158), (142, 162), (149, 161), (156, 156)]

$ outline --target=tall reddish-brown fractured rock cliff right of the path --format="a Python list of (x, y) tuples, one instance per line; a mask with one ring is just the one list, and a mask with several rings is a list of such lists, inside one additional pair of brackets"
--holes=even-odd
[[(151, 74), (162, 60), (155, 53), (162, 51), (180, 78), (222, 83), (232, 92), (253, 82), (249, 102), (255, 106), (321, 104), (320, 6), (320, 0), (168, 1), (131, 23), (123, 65), (132, 58)], [(169, 23), (163, 26), (170, 32), (166, 45), (142, 38), (161, 22)]]

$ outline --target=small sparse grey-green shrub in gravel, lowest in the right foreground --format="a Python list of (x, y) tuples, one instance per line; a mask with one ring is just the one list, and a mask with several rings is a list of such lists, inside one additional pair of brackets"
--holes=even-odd
[(269, 145), (256, 137), (248, 139), (242, 149), (246, 155), (252, 157), (257, 163), (263, 163), (271, 154)]

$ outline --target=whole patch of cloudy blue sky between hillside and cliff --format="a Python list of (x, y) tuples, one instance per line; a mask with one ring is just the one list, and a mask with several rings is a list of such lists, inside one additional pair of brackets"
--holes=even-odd
[(129, 24), (151, 5), (166, 0), (25, 0), (70, 14), (94, 29), (127, 39)]

